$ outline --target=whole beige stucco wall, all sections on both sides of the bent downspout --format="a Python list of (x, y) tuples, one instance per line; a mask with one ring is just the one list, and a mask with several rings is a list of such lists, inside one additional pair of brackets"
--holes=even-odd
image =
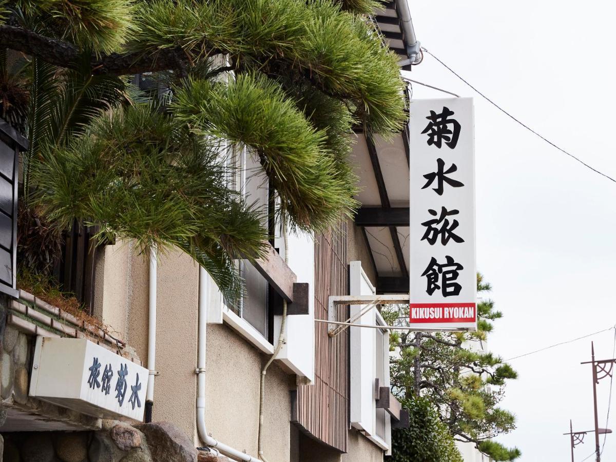
[[(197, 436), (197, 265), (182, 251), (163, 254), (157, 265), (156, 370), (153, 421), (170, 421)], [(132, 243), (107, 246), (97, 267), (95, 314), (113, 326), (147, 365), (147, 256)], [(225, 325), (208, 325), (206, 426), (214, 438), (256, 456), (259, 378), (265, 355)], [(289, 390), (295, 376), (275, 363), (266, 376), (265, 456), (290, 458)]]

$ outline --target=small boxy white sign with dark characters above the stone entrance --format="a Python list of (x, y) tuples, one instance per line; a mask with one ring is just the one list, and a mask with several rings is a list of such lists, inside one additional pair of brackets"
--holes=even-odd
[(30, 396), (99, 418), (144, 418), (148, 370), (86, 339), (36, 339)]

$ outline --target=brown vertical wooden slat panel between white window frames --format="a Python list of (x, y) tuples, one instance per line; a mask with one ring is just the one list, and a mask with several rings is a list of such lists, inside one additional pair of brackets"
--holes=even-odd
[[(327, 318), (330, 295), (348, 293), (346, 224), (315, 237), (315, 318)], [(336, 319), (349, 318), (338, 307)], [(335, 338), (325, 323), (315, 325), (315, 381), (298, 387), (298, 424), (326, 445), (346, 452), (349, 425), (349, 333)]]

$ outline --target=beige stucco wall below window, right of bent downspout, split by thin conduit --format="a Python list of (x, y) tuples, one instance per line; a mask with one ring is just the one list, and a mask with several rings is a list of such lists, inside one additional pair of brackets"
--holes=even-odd
[[(215, 439), (257, 455), (259, 378), (265, 355), (226, 325), (209, 324), (206, 373), (206, 426)], [(264, 455), (290, 460), (289, 390), (294, 375), (272, 364), (265, 376)]]

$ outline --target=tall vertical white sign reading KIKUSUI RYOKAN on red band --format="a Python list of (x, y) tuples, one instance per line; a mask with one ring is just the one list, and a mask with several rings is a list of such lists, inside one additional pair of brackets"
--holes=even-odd
[(410, 325), (476, 330), (471, 98), (410, 103)]

